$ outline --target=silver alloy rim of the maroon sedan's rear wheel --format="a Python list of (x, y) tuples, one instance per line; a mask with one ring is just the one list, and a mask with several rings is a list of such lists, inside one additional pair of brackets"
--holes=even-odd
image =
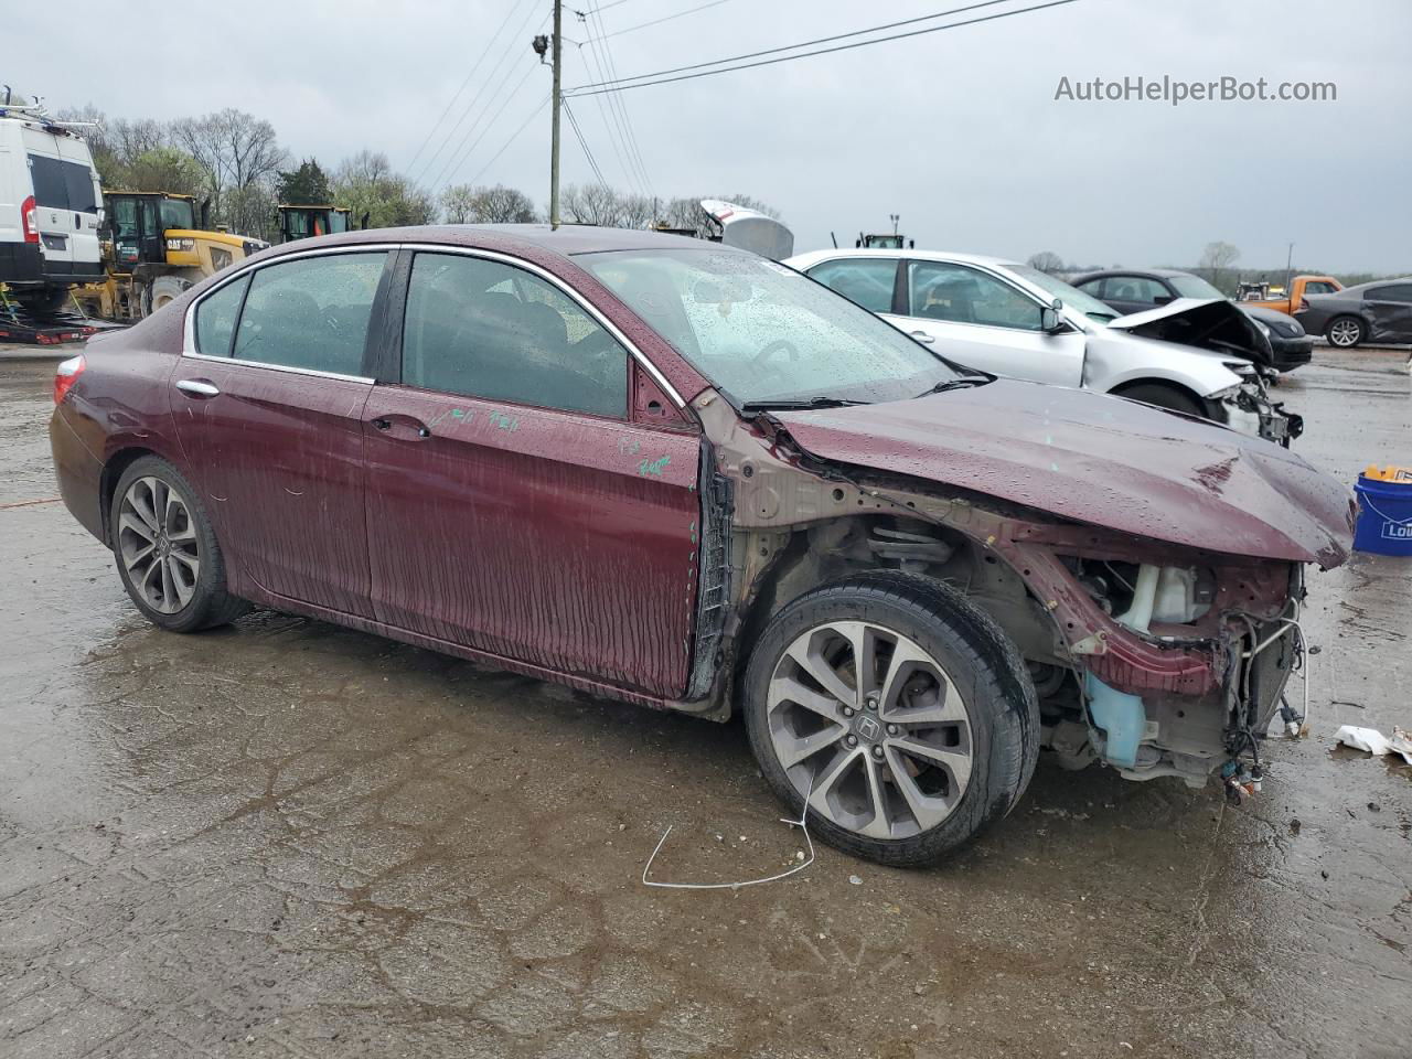
[(191, 603), (201, 576), (201, 545), (191, 508), (158, 477), (127, 487), (117, 513), (117, 551), (137, 594), (152, 610), (175, 614)]

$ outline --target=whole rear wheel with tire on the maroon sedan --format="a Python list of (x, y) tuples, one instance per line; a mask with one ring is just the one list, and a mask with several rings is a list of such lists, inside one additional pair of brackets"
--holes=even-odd
[(150, 621), (175, 633), (223, 626), (247, 604), (226, 590), (210, 520), (181, 472), (157, 456), (133, 462), (109, 517), (123, 587)]

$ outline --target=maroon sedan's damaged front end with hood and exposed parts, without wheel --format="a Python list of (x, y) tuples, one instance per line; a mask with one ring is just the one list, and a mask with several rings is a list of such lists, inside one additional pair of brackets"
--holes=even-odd
[(1019, 647), (1063, 765), (1231, 796), (1274, 714), (1298, 724), (1305, 570), (1344, 562), (1356, 514), (1286, 449), (1007, 380), (779, 412), (717, 452), (743, 606), (863, 566), (945, 580)]

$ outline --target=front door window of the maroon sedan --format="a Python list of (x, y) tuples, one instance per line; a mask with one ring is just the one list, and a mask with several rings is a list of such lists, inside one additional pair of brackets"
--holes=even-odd
[(627, 361), (578, 302), (532, 273), (459, 254), (412, 263), (407, 385), (626, 418)]

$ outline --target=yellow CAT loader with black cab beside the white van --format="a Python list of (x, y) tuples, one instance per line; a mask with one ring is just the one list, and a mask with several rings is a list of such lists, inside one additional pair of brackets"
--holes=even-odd
[(73, 291), (90, 316), (136, 321), (181, 297), (188, 287), (244, 261), (268, 243), (208, 232), (196, 199), (165, 192), (104, 191), (103, 265), (107, 278)]

